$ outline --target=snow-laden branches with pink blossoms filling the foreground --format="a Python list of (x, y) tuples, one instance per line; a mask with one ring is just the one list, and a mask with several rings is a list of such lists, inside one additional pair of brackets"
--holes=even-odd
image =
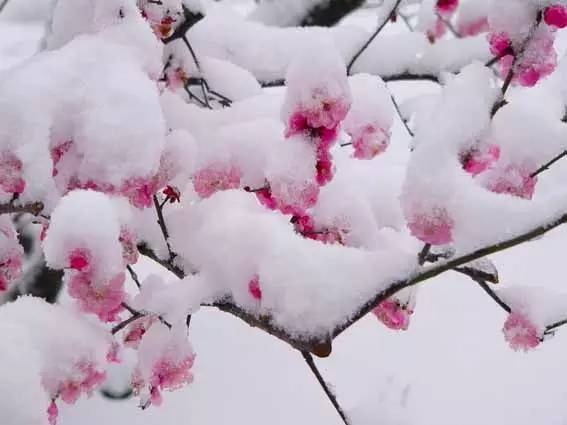
[[(407, 330), (415, 284), (497, 281), (470, 260), (561, 222), (567, 193), (540, 174), (567, 149), (567, 4), (407, 3), (381, 5), (413, 30), (390, 35), (195, 0), (53, 3), (45, 49), (0, 79), (0, 292), (25, 292), (24, 222), (67, 305), (0, 308), (0, 376), (40, 406), (0, 397), (3, 417), (54, 425), (122, 349), (141, 406), (160, 405), (193, 380), (201, 305), (326, 355), (365, 313)], [(406, 102), (388, 85), (422, 79), (439, 89)], [(141, 255), (179, 279), (139, 280)], [(549, 334), (500, 305), (513, 349)]]

